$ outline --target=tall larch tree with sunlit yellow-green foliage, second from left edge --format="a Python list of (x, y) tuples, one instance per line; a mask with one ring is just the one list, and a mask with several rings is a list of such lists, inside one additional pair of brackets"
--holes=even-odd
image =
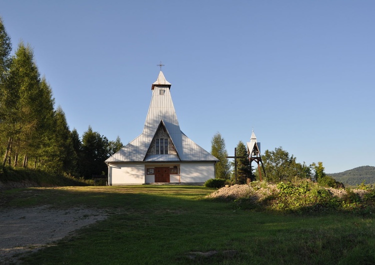
[(34, 151), (31, 137), (40, 114), (40, 77), (29, 45), (19, 43), (4, 82), (0, 102), (1, 132), (8, 143), (3, 164), (11, 148), (22, 150), (24, 161), (27, 161), (27, 155)]

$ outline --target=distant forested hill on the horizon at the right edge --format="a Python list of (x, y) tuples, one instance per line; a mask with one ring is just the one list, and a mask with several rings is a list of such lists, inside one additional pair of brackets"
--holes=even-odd
[(375, 166), (363, 165), (339, 173), (327, 174), (345, 186), (355, 186), (365, 180), (365, 184), (375, 184)]

